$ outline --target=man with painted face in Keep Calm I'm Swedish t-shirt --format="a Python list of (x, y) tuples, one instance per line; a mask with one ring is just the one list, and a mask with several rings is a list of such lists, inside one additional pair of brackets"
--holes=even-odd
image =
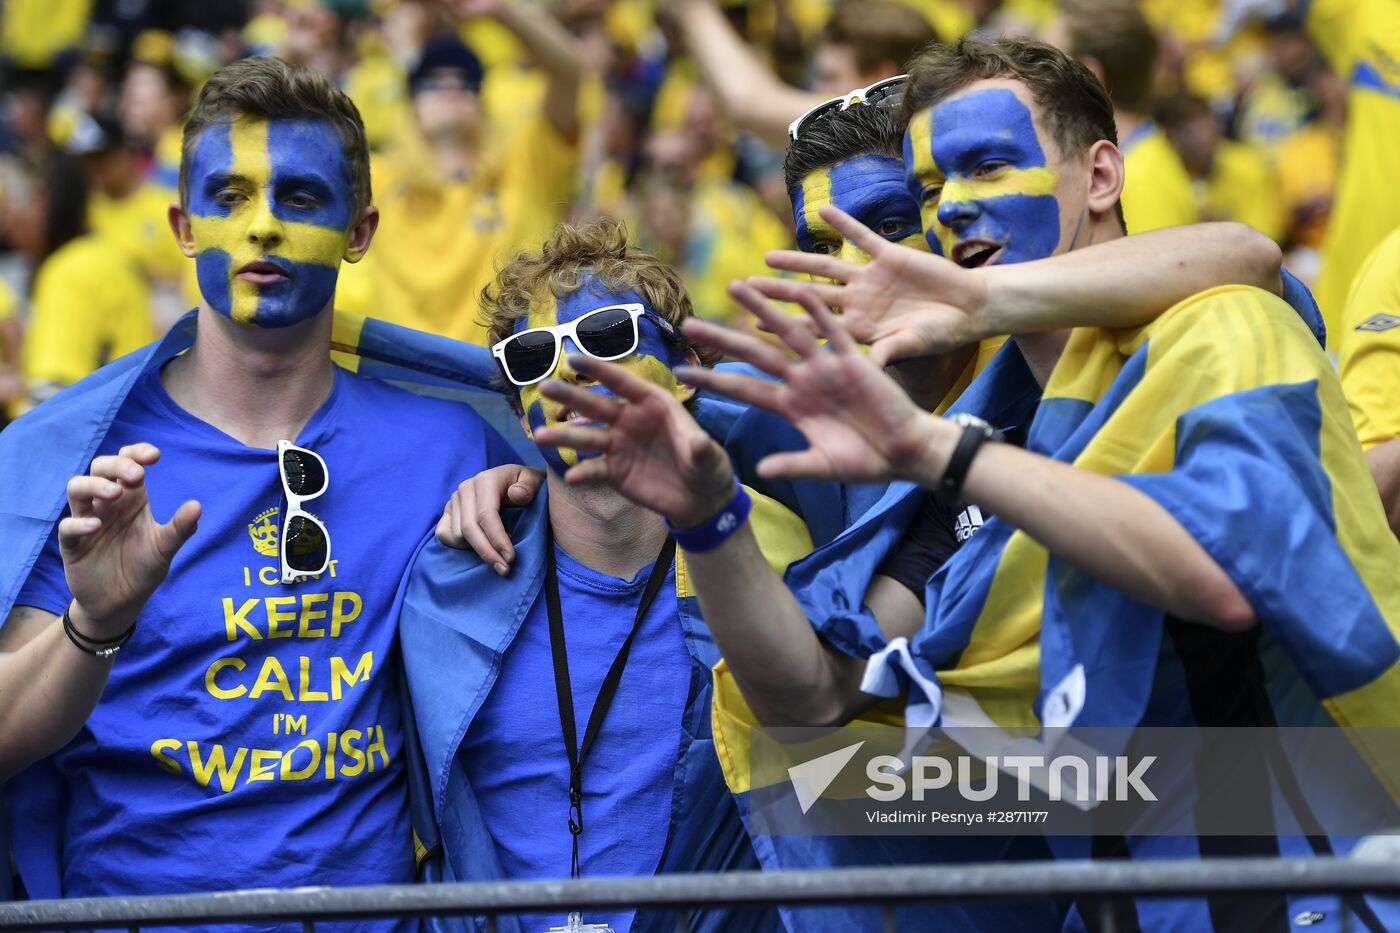
[[(412, 881), (396, 580), (458, 471), (514, 455), (470, 408), (365, 377), (385, 325), (336, 322), (360, 371), (332, 363), (339, 266), (378, 214), (328, 78), (214, 74), (169, 220), (199, 308), (0, 443), (27, 478), (0, 502), (0, 643), (69, 665), (57, 751), (7, 787), (15, 862), (42, 898)], [(88, 464), (53, 534), (53, 478)]]

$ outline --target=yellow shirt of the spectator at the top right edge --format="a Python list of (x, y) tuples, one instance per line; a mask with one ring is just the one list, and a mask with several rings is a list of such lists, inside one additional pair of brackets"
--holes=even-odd
[(1341, 179), (1316, 289), (1336, 349), (1357, 269), (1400, 227), (1400, 3), (1313, 0), (1308, 31), (1350, 85)]

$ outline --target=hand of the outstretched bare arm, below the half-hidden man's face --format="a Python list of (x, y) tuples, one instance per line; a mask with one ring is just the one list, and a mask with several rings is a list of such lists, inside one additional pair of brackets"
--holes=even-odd
[(871, 262), (857, 265), (815, 252), (776, 249), (767, 255), (771, 268), (836, 284), (792, 279), (750, 279), (750, 284), (783, 301), (797, 301), (802, 290), (811, 290), (827, 305), (840, 308), (846, 329), (869, 345), (876, 366), (941, 353), (998, 333), (995, 322), (987, 319), (987, 283), (977, 270), (892, 244), (832, 205), (823, 205), (819, 213), (865, 251)]

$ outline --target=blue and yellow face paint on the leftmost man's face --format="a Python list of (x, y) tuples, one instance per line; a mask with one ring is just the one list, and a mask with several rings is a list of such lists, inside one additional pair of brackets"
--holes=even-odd
[(354, 224), (350, 163), (323, 119), (251, 119), (204, 127), (189, 177), (199, 291), (230, 319), (281, 328), (336, 293)]

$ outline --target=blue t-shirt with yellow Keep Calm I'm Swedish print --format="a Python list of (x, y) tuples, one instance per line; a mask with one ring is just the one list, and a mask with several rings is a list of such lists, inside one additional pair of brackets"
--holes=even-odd
[[(302, 509), (330, 538), (283, 586), (277, 454), (181, 409), (141, 375), (98, 454), (150, 441), (151, 511), (199, 531), (143, 611), (83, 731), (53, 756), (63, 880), (32, 897), (412, 881), (395, 590), (456, 482), (514, 462), (469, 408), (335, 371), (295, 443), (326, 461)], [(50, 537), (17, 604), (69, 602)], [(24, 787), (11, 794), (24, 810)], [(24, 866), (21, 864), (21, 870)], [(388, 920), (360, 925), (389, 929)], [(297, 925), (300, 929), (300, 925)]]

